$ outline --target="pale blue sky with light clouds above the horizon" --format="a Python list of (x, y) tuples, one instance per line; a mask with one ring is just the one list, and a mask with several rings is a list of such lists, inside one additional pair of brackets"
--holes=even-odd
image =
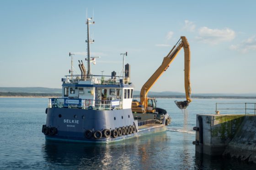
[[(256, 1), (0, 0), (0, 87), (61, 88), (69, 52), (100, 56), (92, 74), (121, 74), (140, 90), (181, 36), (191, 50), (192, 93), (256, 93)], [(184, 52), (151, 91), (184, 92)], [(76, 72), (75, 72), (76, 74)]]

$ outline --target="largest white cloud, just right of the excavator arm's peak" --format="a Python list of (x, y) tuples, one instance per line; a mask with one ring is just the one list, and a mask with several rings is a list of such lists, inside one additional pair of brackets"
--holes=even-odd
[(203, 43), (218, 44), (225, 41), (231, 41), (235, 38), (235, 31), (225, 28), (223, 30), (210, 29), (208, 27), (201, 27), (198, 30), (197, 40)]

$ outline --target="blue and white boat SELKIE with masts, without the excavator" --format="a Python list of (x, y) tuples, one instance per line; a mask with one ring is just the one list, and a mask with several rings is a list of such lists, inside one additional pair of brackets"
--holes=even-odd
[(46, 124), (42, 133), (46, 140), (88, 143), (112, 143), (128, 138), (164, 132), (171, 117), (164, 109), (139, 114), (133, 112), (133, 89), (130, 80), (130, 65), (124, 65), (123, 75), (94, 75), (91, 73), (89, 25), (87, 18), (87, 70), (79, 61), (81, 74), (73, 72), (73, 56), (69, 75), (62, 78), (62, 96), (49, 98), (46, 108)]

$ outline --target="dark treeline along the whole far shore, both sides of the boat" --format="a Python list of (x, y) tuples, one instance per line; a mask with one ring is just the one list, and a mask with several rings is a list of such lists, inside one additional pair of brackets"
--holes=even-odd
[[(60, 97), (59, 93), (21, 93), (21, 92), (0, 92), (2, 97)], [(133, 95), (134, 98), (139, 98), (139, 95)], [(155, 98), (186, 98), (182, 95), (168, 95), (168, 96), (148, 96)], [(192, 96), (197, 99), (256, 99), (256, 96)]]

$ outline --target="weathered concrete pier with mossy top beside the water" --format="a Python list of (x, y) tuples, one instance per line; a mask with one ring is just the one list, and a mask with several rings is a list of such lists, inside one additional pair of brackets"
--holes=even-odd
[(197, 115), (196, 152), (256, 163), (256, 116)]

